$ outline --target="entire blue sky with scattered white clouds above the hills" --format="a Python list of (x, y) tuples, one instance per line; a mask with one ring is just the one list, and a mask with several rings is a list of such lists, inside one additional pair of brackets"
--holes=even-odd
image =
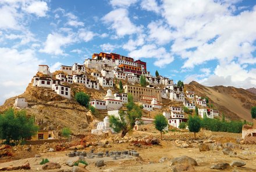
[(115, 52), (175, 82), (256, 85), (256, 1), (0, 1), (0, 104), (51, 71)]

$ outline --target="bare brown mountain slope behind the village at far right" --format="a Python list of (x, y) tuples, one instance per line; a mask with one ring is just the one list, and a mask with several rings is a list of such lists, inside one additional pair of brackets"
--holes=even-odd
[(194, 90), (195, 95), (209, 98), (209, 104), (225, 114), (228, 119), (251, 119), (251, 107), (256, 106), (256, 94), (236, 87), (207, 87), (197, 82), (185, 85), (185, 90)]

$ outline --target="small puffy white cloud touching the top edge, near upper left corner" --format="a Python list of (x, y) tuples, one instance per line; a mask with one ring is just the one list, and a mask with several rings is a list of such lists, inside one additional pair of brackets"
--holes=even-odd
[(35, 14), (38, 17), (45, 17), (49, 8), (44, 1), (32, 1), (24, 7), (24, 10), (28, 13)]

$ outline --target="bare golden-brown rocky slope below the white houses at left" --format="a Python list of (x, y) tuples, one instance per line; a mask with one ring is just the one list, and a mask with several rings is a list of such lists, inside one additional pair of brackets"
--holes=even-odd
[[(36, 122), (41, 129), (57, 129), (70, 127), (74, 133), (83, 133), (88, 124), (97, 119), (86, 108), (74, 100), (74, 93), (78, 91), (86, 92), (91, 98), (102, 98), (105, 96), (104, 90), (95, 92), (93, 89), (87, 89), (83, 85), (70, 85), (72, 89), (72, 98), (70, 100), (59, 96), (51, 89), (43, 87), (33, 87), (31, 83), (26, 91), (16, 97), (24, 97), (29, 103), (26, 108), (27, 114), (35, 116)], [(0, 107), (0, 112), (4, 112), (13, 107), (15, 98), (12, 97), (5, 101)], [(102, 114), (106, 112), (102, 112)], [(102, 117), (102, 116), (101, 116)]]

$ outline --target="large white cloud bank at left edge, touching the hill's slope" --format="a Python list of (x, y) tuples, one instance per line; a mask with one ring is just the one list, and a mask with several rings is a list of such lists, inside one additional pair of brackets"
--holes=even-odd
[(18, 51), (0, 47), (0, 104), (6, 98), (17, 96), (26, 89), (31, 78), (36, 74), (38, 64), (44, 63), (35, 57), (34, 50)]

